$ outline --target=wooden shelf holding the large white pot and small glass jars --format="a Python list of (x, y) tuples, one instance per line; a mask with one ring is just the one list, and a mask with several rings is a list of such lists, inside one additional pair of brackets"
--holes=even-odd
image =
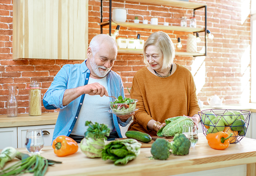
[[(109, 21), (101, 22), (99, 25), (107, 25)], [(203, 31), (204, 28), (199, 27), (182, 27), (182, 26), (165, 26), (165, 25), (154, 25), (154, 24), (143, 24), (143, 23), (134, 23), (134, 22), (111, 22), (111, 26), (123, 26), (123, 27), (135, 27), (142, 29), (155, 29), (155, 30), (169, 30), (169, 31), (182, 31), (182, 32), (199, 32)]]

